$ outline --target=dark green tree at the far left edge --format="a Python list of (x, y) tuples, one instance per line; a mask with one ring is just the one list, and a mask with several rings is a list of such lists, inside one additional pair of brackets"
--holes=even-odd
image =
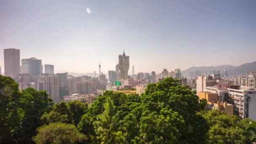
[(0, 143), (16, 141), (24, 110), (19, 108), (21, 92), (11, 77), (0, 75)]

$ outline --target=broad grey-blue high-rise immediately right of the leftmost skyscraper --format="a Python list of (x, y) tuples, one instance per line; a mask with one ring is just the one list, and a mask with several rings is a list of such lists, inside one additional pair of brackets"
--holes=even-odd
[(21, 59), (21, 73), (34, 76), (42, 74), (42, 60), (36, 58)]

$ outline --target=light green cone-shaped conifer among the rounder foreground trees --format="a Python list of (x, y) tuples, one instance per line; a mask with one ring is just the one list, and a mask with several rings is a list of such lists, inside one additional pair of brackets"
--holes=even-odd
[(107, 98), (104, 107), (103, 114), (99, 115), (97, 121), (93, 123), (97, 138), (101, 140), (101, 144), (120, 143), (120, 140), (123, 141), (123, 139), (122, 134), (118, 132), (119, 115), (115, 111), (113, 101)]

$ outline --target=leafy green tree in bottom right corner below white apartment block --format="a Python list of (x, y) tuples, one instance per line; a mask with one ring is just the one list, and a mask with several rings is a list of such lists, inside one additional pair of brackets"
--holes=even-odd
[(202, 112), (203, 117), (210, 125), (207, 133), (208, 144), (245, 144), (251, 143), (250, 133), (247, 133), (249, 123), (240, 120), (235, 115), (226, 115), (224, 112), (211, 110)]

